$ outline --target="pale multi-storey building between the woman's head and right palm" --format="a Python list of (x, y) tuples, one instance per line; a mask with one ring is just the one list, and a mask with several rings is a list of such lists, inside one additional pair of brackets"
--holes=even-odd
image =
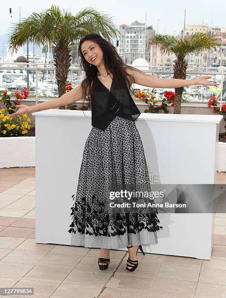
[(137, 58), (145, 58), (150, 63), (150, 51), (145, 45), (148, 39), (155, 34), (152, 26), (146, 26), (137, 20), (131, 25), (119, 26), (121, 37), (118, 42), (118, 54), (126, 64), (132, 64)]

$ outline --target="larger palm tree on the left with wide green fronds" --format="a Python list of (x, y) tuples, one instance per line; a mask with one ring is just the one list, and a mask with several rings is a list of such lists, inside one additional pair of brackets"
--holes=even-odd
[(41, 13), (33, 13), (9, 29), (9, 49), (14, 51), (27, 41), (38, 46), (53, 47), (56, 67), (56, 79), (59, 97), (65, 93), (66, 80), (72, 60), (72, 46), (83, 36), (90, 33), (101, 34), (108, 41), (119, 36), (108, 14), (97, 12), (88, 7), (75, 16), (71, 12), (62, 12), (59, 6)]

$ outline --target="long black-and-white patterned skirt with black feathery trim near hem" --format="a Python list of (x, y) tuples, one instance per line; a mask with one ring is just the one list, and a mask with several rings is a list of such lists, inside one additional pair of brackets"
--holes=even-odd
[(76, 193), (72, 195), (71, 244), (93, 248), (124, 248), (157, 243), (162, 228), (155, 213), (104, 212), (103, 187), (149, 184), (143, 144), (135, 123), (116, 116), (106, 130), (92, 127), (87, 138)]

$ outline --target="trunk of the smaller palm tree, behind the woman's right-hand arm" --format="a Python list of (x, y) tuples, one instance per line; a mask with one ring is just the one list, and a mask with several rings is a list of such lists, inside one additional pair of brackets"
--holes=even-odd
[[(186, 79), (186, 70), (188, 68), (188, 62), (185, 58), (177, 59), (174, 61), (173, 65), (173, 78), (177, 79)], [(175, 88), (175, 101), (174, 101), (174, 114), (181, 113), (181, 100), (182, 100), (182, 93), (184, 91), (184, 87)]]

